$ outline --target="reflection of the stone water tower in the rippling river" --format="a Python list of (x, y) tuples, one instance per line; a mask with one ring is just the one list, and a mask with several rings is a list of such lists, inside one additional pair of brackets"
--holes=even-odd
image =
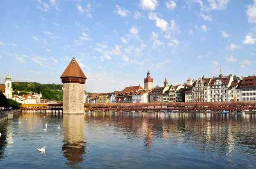
[(86, 142), (84, 141), (84, 115), (63, 115), (63, 155), (74, 167), (84, 160)]

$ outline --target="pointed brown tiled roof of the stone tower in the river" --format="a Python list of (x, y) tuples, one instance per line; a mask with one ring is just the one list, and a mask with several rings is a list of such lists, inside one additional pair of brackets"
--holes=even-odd
[(61, 78), (64, 78), (64, 77), (80, 77), (80, 78), (87, 79), (87, 77), (84, 75), (83, 71), (81, 70), (80, 66), (78, 65), (74, 57), (71, 60), (70, 64), (62, 73)]

